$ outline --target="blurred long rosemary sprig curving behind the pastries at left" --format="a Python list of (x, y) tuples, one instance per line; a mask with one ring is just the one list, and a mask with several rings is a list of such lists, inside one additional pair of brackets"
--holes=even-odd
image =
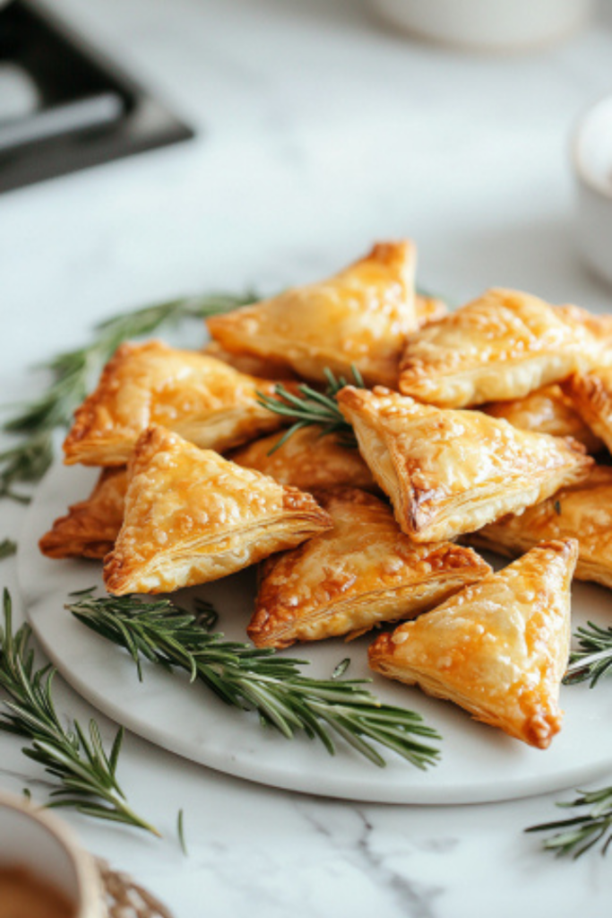
[(202, 319), (227, 312), (253, 299), (250, 293), (244, 296), (209, 294), (173, 299), (122, 313), (96, 325), (94, 340), (89, 344), (42, 364), (51, 372), (51, 385), (42, 396), (4, 424), (5, 431), (25, 435), (25, 439), (0, 453), (0, 498), (28, 501), (28, 497), (15, 491), (13, 485), (38, 481), (44, 475), (53, 456), (51, 431), (70, 423), (72, 412), (83, 401), (95, 375), (122, 341), (150, 334), (162, 325), (176, 324), (182, 319)]

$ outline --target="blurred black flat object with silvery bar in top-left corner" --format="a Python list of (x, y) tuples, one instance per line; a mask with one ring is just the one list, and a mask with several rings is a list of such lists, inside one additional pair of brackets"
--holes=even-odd
[(32, 0), (0, 11), (0, 62), (28, 73), (40, 98), (36, 111), (0, 120), (0, 191), (194, 136)]

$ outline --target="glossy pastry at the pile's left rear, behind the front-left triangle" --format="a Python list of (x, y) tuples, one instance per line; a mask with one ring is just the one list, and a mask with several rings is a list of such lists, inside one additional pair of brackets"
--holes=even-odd
[(202, 353), (161, 341), (123, 344), (75, 412), (65, 462), (125, 465), (152, 424), (208, 449), (238, 446), (282, 426), (282, 419), (258, 404), (258, 391), (272, 395), (273, 383)]

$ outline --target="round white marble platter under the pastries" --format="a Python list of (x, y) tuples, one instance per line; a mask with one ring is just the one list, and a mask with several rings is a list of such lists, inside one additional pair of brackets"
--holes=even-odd
[[(64, 610), (68, 594), (102, 584), (95, 562), (50, 561), (38, 540), (70, 503), (89, 493), (95, 471), (56, 464), (28, 510), (19, 552), (19, 579), (29, 621), (61, 675), (100, 711), (152, 743), (195, 762), (272, 787), (328, 797), (394, 803), (475, 803), (509, 800), (580, 786), (612, 766), (612, 684), (591, 692), (585, 685), (562, 689), (565, 721), (545, 752), (473, 722), (450, 702), (432, 700), (374, 677), (381, 699), (419, 711), (443, 737), (440, 764), (420, 771), (393, 753), (379, 768), (350, 747), (338, 744), (329, 756), (304, 736), (285, 740), (261, 728), (253, 714), (228, 708), (205, 686), (190, 685), (182, 674), (144, 667), (139, 682), (122, 649), (87, 629)], [(189, 605), (194, 592), (214, 602), (218, 629), (246, 640), (254, 591), (252, 571), (215, 584), (185, 590), (175, 599)], [(603, 588), (574, 584), (573, 628), (610, 620), (612, 597)], [(302, 645), (287, 655), (311, 661), (307, 674), (328, 677), (346, 656), (346, 677), (371, 677), (367, 636)]]

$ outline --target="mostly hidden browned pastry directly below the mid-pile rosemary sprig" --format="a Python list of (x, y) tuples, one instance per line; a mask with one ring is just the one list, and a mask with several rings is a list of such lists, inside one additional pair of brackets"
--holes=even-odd
[(303, 491), (328, 487), (378, 490), (359, 450), (343, 445), (338, 434), (321, 435), (321, 428), (314, 424), (295, 431), (274, 450), (283, 436), (283, 432), (273, 433), (240, 447), (228, 458), (245, 468), (257, 469), (282, 485), (293, 485)]

